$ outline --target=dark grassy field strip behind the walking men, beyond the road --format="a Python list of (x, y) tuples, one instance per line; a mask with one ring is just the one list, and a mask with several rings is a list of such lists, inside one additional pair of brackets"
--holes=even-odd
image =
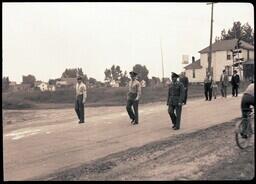
[[(243, 92), (249, 83), (240, 85), (240, 92)], [(166, 101), (168, 88), (146, 87), (142, 89), (140, 103), (151, 103)], [(231, 86), (228, 87), (228, 94), (231, 93)], [(126, 104), (127, 88), (91, 88), (88, 89), (86, 106), (116, 106)], [(220, 91), (218, 90), (220, 96)], [(188, 90), (188, 99), (204, 97), (202, 85), (191, 85)], [(55, 92), (6, 92), (2, 93), (3, 109), (30, 109), (30, 108), (65, 108), (72, 107), (75, 101), (74, 90), (62, 90)]]

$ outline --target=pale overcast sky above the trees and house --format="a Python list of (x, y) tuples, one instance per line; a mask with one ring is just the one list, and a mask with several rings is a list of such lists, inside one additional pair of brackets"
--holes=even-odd
[[(149, 77), (181, 72), (182, 55), (200, 57), (210, 41), (211, 6), (206, 3), (3, 3), (3, 76), (22, 81), (59, 78), (81, 67), (104, 80), (113, 64), (130, 71), (146, 65)], [(254, 30), (253, 5), (214, 5), (213, 42), (234, 21)]]

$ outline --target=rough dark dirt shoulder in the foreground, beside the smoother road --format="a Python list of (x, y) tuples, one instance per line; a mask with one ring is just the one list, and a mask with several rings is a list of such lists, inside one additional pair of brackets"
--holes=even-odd
[(44, 180), (251, 180), (254, 149), (234, 142), (235, 122), (146, 144)]

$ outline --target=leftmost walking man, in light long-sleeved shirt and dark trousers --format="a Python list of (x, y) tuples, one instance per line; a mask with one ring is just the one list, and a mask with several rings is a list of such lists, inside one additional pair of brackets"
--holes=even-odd
[(82, 82), (82, 77), (77, 77), (76, 84), (76, 101), (75, 101), (75, 111), (79, 119), (78, 123), (84, 123), (84, 104), (86, 100), (86, 85)]

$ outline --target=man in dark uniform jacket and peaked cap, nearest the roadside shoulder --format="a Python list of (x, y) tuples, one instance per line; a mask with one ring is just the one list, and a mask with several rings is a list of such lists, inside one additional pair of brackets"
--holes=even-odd
[(177, 81), (178, 77), (179, 75), (172, 72), (172, 82), (169, 87), (167, 98), (167, 105), (169, 106), (168, 113), (171, 117), (173, 124), (172, 128), (174, 130), (180, 129), (182, 103), (185, 95), (183, 84)]

